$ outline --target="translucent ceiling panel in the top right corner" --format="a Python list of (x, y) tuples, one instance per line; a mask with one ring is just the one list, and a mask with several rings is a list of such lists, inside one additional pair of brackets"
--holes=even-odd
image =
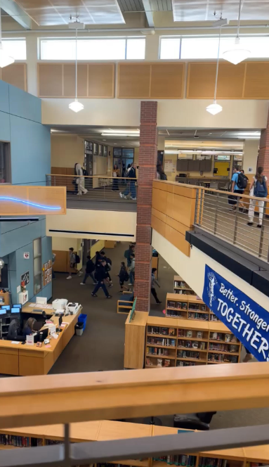
[[(174, 21), (213, 21), (214, 12), (228, 20), (237, 20), (239, 0), (172, 0)], [(269, 18), (268, 0), (242, 1), (242, 20)]]

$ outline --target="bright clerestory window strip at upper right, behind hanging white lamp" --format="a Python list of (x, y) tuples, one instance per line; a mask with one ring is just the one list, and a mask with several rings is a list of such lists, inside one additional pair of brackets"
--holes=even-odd
[[(235, 44), (234, 37), (221, 37), (220, 57)], [(240, 37), (240, 44), (251, 51), (250, 58), (269, 58), (269, 37)], [(161, 59), (216, 59), (218, 37), (161, 37)]]

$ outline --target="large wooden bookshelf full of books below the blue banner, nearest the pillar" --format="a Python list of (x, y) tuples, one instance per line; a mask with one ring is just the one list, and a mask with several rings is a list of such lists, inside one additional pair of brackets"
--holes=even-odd
[(240, 362), (241, 343), (221, 322), (148, 316), (145, 368)]

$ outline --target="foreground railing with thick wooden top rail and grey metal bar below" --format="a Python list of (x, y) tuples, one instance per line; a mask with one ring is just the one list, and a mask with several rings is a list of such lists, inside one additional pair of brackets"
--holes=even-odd
[(0, 465), (70, 467), (267, 444), (268, 425), (72, 444), (70, 423), (268, 407), (268, 370), (253, 363), (4, 378), (2, 430), (55, 423), (65, 430), (63, 445), (0, 452)]

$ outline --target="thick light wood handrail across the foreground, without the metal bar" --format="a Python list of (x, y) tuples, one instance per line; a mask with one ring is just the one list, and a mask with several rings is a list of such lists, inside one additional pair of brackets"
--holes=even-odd
[(269, 363), (25, 376), (1, 380), (0, 428), (268, 407), (268, 400)]

